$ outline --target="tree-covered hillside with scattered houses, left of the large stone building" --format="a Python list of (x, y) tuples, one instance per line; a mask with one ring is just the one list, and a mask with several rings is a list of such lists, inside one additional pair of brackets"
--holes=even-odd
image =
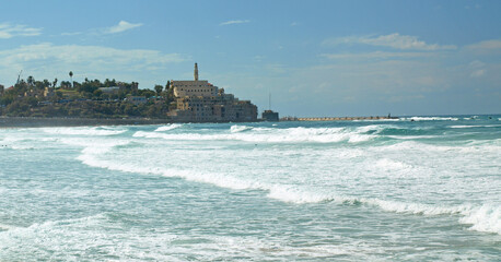
[[(73, 72), (70, 71), (70, 78)], [(20, 80), (0, 88), (0, 116), (78, 118), (167, 118), (175, 108), (170, 82), (152, 90), (139, 90), (138, 83), (106, 79), (85, 79), (82, 83), (58, 80)], [(132, 99), (135, 98), (135, 99)]]

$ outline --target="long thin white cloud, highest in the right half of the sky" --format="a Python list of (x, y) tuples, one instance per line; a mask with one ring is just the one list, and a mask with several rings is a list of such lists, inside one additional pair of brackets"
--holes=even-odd
[(427, 44), (426, 41), (419, 40), (417, 36), (400, 35), (398, 33), (380, 36), (347, 36), (330, 38), (323, 41), (323, 45), (342, 45), (342, 44), (362, 44), (370, 46), (383, 46), (395, 49), (411, 49), (411, 50), (446, 50), (456, 49), (456, 46), (445, 45), (441, 46), (438, 44)]

